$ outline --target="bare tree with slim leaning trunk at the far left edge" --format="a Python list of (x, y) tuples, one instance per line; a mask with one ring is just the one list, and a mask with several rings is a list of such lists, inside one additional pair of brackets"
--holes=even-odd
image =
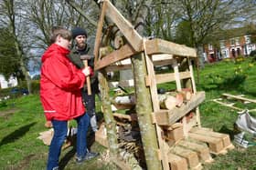
[[(3, 0), (0, 5), (0, 25), (6, 25), (9, 35), (13, 37), (14, 57), (16, 57), (16, 61), (18, 61), (22, 75), (25, 76), (28, 92), (31, 93), (31, 81), (26, 65), (26, 53), (29, 49), (27, 46), (27, 35), (29, 35), (30, 29), (24, 17), (25, 15), (23, 14), (23, 9), (27, 4), (24, 1)], [(12, 48), (12, 46), (10, 46), (10, 48)]]

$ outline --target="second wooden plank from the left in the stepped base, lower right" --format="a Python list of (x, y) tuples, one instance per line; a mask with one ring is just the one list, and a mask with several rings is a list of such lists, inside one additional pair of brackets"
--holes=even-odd
[(187, 164), (190, 168), (195, 168), (200, 164), (197, 153), (190, 149), (181, 146), (175, 146), (171, 148), (170, 152), (186, 158)]

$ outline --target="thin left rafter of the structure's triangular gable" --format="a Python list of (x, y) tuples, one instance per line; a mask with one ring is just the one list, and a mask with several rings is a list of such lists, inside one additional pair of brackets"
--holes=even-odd
[(103, 2), (102, 9), (101, 9), (101, 17), (100, 21), (97, 26), (97, 32), (96, 32), (96, 37), (95, 37), (95, 43), (94, 43), (94, 50), (93, 50), (93, 55), (95, 57), (94, 65), (97, 64), (97, 61), (99, 59), (99, 49), (100, 49), (100, 43), (101, 43), (101, 35), (102, 35), (102, 27), (104, 23), (104, 17), (105, 17), (105, 11), (106, 11), (107, 5), (106, 2)]

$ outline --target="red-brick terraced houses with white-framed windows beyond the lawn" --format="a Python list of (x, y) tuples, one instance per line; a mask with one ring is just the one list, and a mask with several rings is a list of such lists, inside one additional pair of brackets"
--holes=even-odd
[[(229, 30), (229, 33), (223, 35), (217, 45), (204, 45), (204, 55), (208, 62), (215, 62), (225, 58), (236, 58), (238, 56), (248, 56), (251, 51), (256, 50), (256, 44), (252, 39), (255, 35), (246, 34), (244, 29)], [(237, 34), (236, 34), (237, 33)]]

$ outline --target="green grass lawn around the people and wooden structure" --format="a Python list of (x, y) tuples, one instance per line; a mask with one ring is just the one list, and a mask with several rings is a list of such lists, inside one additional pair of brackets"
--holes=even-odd
[[(214, 131), (235, 135), (233, 124), (237, 111), (212, 102), (222, 93), (256, 96), (256, 63), (251, 59), (240, 62), (222, 61), (206, 65), (199, 72), (197, 91), (206, 92), (206, 100), (199, 105), (201, 123)], [(195, 71), (197, 76), (197, 71)], [(197, 79), (197, 77), (196, 77)], [(165, 87), (165, 85), (163, 85)], [(168, 86), (168, 85), (166, 85)], [(173, 86), (173, 85), (171, 85)], [(256, 105), (238, 103), (241, 108), (256, 108)], [(99, 108), (98, 108), (99, 107)], [(100, 110), (98, 103), (97, 110)], [(252, 113), (251, 115), (256, 115)], [(24, 95), (0, 103), (0, 169), (45, 169), (48, 158), (48, 146), (37, 139), (44, 127), (45, 117), (38, 95)], [(117, 169), (105, 159), (106, 148), (94, 143), (92, 150), (101, 153), (98, 159), (82, 165), (74, 161), (75, 150), (69, 147), (60, 156), (60, 166), (65, 169)], [(226, 155), (214, 157), (214, 162), (204, 165), (204, 169), (256, 169), (256, 146), (248, 149), (236, 147)]]

